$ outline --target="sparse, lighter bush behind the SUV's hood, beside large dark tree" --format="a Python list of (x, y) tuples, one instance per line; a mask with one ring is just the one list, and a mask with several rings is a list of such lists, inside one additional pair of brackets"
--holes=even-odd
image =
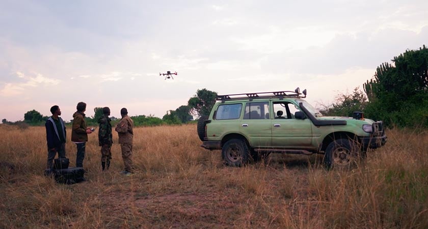
[(352, 94), (337, 95), (335, 103), (324, 106), (319, 112), (325, 116), (352, 117), (354, 111), (364, 111), (366, 105), (367, 97), (357, 87)]

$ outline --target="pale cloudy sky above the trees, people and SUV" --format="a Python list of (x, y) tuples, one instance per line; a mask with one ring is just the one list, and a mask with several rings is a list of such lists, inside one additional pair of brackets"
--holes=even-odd
[[(428, 1), (1, 0), (0, 119), (58, 104), (162, 118), (198, 89), (328, 104), (428, 45)], [(177, 71), (175, 80), (159, 72)]]

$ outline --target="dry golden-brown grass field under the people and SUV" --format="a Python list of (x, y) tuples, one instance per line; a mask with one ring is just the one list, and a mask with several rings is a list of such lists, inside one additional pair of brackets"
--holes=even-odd
[(428, 228), (426, 130), (389, 130), (357, 168), (327, 171), (322, 155), (227, 167), (220, 151), (200, 147), (195, 125), (135, 128), (130, 177), (119, 174), (116, 133), (101, 171), (96, 134), (88, 181), (61, 185), (43, 176), (44, 127), (0, 125), (0, 228)]

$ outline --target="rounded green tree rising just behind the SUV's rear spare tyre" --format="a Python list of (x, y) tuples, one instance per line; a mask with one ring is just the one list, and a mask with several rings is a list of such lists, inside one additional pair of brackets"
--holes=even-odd
[(196, 95), (189, 99), (190, 112), (195, 116), (208, 116), (212, 106), (216, 103), (217, 92), (206, 89), (196, 91)]

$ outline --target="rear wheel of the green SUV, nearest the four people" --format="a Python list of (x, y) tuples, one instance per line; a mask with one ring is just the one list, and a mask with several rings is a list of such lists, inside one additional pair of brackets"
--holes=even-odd
[(230, 139), (222, 147), (222, 157), (227, 165), (239, 167), (248, 162), (250, 150), (243, 139)]

